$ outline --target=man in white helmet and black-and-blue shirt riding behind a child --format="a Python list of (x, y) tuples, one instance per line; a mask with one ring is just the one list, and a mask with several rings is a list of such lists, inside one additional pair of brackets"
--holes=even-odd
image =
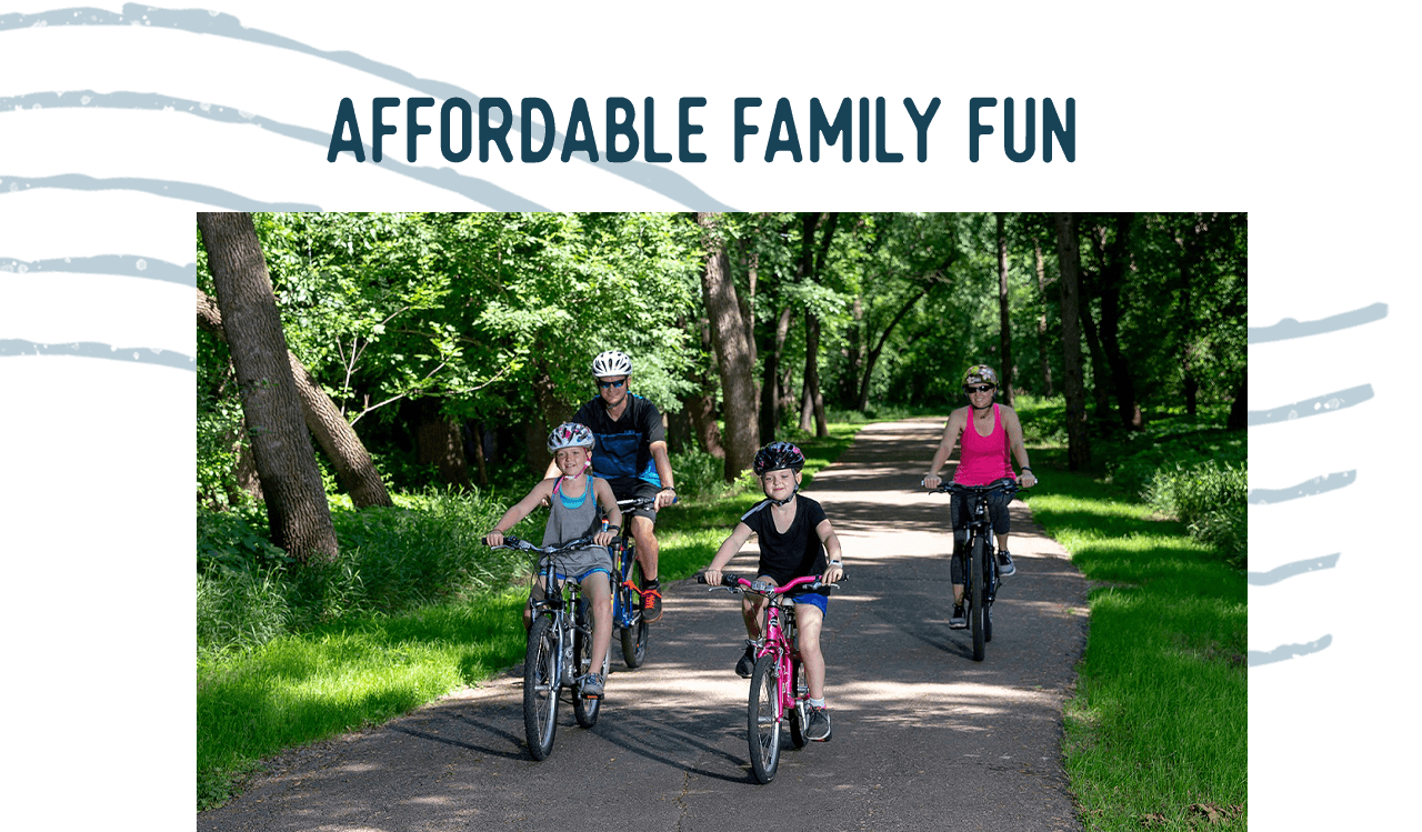
[[(616, 350), (602, 353), (593, 358), (593, 377), (599, 387), (597, 398), (573, 415), (574, 422), (587, 425), (597, 437), (593, 475), (606, 479), (617, 499), (656, 498), (651, 508), (629, 512), (629, 526), (643, 575), (641, 617), (650, 624), (661, 617), (654, 533), (657, 511), (671, 505), (677, 498), (671, 459), (667, 455), (667, 432), (657, 407), (627, 390), (631, 381), (631, 358)], [(550, 465), (549, 476), (555, 474)]]

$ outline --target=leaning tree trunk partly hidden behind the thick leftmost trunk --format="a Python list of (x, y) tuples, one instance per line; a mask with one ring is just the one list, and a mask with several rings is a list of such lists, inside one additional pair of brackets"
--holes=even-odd
[[(226, 343), (228, 333), (222, 329), (222, 311), (202, 289), (198, 289), (198, 326), (212, 333), (219, 341)], [(350, 495), (351, 505), (356, 508), (394, 505), (385, 491), (385, 484), (380, 479), (380, 472), (375, 471), (370, 452), (356, 435), (356, 430), (341, 415), (336, 402), (326, 395), (326, 391), (294, 353), (287, 350), (286, 360), (292, 367), (296, 391), (301, 397), (301, 418), (316, 437), (321, 451), (326, 452), (331, 468), (336, 469), (336, 482), (341, 491)]]

